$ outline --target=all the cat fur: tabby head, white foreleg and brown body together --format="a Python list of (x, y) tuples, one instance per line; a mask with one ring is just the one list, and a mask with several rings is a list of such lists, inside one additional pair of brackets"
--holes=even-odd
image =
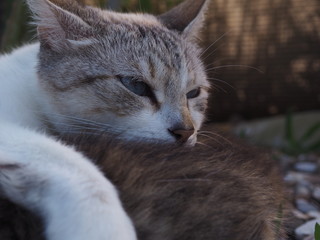
[[(28, 4), (40, 43), (0, 58), (1, 194), (39, 217), (36, 225), (41, 219), (40, 239), (134, 240), (133, 224), (108, 178), (49, 134), (109, 132), (126, 141), (194, 145), (209, 87), (194, 38), (208, 1), (187, 0), (158, 17), (71, 0)], [(141, 145), (128, 149), (108, 134), (101, 141), (94, 142), (98, 152), (83, 150), (103, 162), (104, 173), (121, 189), (140, 239), (276, 236), (271, 222), (281, 213), (281, 187), (261, 156), (229, 145), (153, 145), (141, 152)], [(13, 234), (37, 240), (41, 229), (24, 213), (18, 216), (10, 225)]]

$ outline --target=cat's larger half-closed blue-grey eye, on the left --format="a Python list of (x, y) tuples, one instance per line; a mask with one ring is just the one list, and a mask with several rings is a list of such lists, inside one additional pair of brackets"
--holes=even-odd
[(134, 94), (142, 97), (153, 96), (150, 87), (146, 83), (138, 80), (137, 78), (119, 76), (119, 79), (123, 84), (123, 86), (125, 86), (128, 90), (130, 90)]

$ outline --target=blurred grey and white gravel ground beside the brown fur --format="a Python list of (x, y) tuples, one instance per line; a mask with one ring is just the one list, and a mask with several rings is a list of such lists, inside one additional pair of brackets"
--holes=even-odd
[(315, 223), (320, 223), (320, 154), (292, 157), (275, 151), (274, 156), (294, 207), (290, 240), (312, 240)]

